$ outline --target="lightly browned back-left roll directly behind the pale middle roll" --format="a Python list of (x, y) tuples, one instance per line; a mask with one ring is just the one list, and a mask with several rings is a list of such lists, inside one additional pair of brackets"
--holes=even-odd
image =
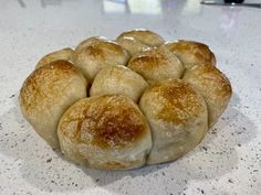
[(80, 43), (74, 55), (74, 64), (88, 82), (104, 67), (127, 64), (129, 55), (121, 45), (103, 39), (92, 37)]

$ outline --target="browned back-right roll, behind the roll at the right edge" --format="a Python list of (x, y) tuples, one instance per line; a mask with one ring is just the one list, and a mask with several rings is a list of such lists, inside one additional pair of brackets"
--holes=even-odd
[(194, 41), (177, 41), (163, 45), (179, 57), (186, 68), (191, 68), (194, 65), (211, 64), (216, 65), (216, 57), (209, 47), (199, 42)]

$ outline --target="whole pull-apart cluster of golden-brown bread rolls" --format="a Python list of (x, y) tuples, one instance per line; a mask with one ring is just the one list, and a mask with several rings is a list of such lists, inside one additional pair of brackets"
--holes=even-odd
[(130, 170), (191, 151), (231, 93), (207, 45), (132, 30), (45, 55), (19, 100), (35, 131), (73, 162)]

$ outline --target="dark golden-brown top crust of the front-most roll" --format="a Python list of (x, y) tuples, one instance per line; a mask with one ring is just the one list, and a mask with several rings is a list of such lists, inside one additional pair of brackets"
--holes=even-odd
[(80, 143), (101, 149), (121, 149), (138, 142), (147, 127), (130, 99), (102, 96), (79, 101), (63, 116), (60, 129)]

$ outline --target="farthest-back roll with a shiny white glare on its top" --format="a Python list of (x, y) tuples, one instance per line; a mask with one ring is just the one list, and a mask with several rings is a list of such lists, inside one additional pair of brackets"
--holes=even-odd
[(139, 29), (122, 33), (116, 39), (116, 42), (127, 50), (130, 55), (134, 55), (148, 48), (160, 46), (165, 41), (155, 32)]

